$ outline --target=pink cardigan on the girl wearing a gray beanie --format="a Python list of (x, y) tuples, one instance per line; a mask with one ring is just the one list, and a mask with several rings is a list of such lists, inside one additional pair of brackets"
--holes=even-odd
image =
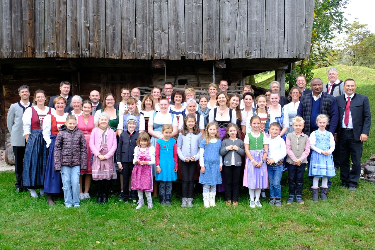
[[(90, 135), (90, 149), (96, 157), (100, 155), (99, 149), (100, 145), (102, 144), (102, 134), (103, 131), (100, 128), (94, 128)], [(107, 146), (108, 153), (104, 155), (104, 157), (108, 159), (113, 157), (117, 149), (116, 134), (111, 128), (108, 128)]]

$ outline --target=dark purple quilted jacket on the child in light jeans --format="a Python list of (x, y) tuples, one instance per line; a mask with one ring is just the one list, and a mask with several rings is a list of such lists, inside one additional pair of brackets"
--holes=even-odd
[(83, 132), (75, 127), (68, 130), (65, 126), (58, 132), (55, 142), (55, 171), (59, 172), (61, 166), (80, 166), (87, 168), (87, 148)]

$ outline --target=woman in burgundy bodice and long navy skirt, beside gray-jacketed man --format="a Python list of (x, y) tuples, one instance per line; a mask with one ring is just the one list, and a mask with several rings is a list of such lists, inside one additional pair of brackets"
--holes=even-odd
[(36, 106), (26, 108), (22, 116), (26, 149), (23, 170), (23, 185), (30, 190), (30, 195), (37, 198), (36, 188), (44, 195), (43, 185), (47, 163), (47, 148), (43, 139), (43, 119), (47, 114), (55, 113), (54, 108), (46, 106), (45, 92), (38, 89), (34, 93)]

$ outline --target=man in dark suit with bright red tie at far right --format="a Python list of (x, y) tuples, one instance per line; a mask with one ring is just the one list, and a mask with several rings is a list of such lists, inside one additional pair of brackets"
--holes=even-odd
[[(361, 174), (363, 142), (366, 142), (371, 126), (369, 98), (355, 93), (356, 82), (349, 78), (344, 83), (344, 95), (336, 96), (339, 108), (339, 124), (335, 139), (340, 145), (340, 187), (356, 191)], [(350, 170), (350, 158), (352, 169)]]

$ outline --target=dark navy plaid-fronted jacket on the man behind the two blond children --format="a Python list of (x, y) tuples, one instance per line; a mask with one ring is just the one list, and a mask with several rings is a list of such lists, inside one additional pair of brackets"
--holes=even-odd
[[(311, 110), (312, 110), (312, 103), (313, 97), (312, 93), (302, 96), (300, 99), (300, 105), (297, 110), (297, 116), (301, 116), (305, 120), (305, 127), (303, 128), (303, 133), (310, 136), (311, 124)], [(335, 97), (326, 92), (322, 92), (321, 95), (321, 102), (320, 102), (320, 113), (325, 114), (329, 117), (329, 124), (326, 127), (326, 130), (330, 131), (332, 134), (335, 134), (335, 130), (339, 120), (339, 110), (337, 107), (337, 102)]]

